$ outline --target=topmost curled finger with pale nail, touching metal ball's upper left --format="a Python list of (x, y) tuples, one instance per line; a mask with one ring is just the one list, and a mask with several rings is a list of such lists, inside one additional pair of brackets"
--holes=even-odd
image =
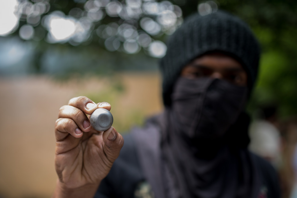
[(94, 103), (91, 99), (86, 96), (79, 96), (75, 98), (71, 98), (68, 102), (68, 105), (79, 108), (85, 114), (91, 115), (95, 109), (97, 109), (97, 104)]

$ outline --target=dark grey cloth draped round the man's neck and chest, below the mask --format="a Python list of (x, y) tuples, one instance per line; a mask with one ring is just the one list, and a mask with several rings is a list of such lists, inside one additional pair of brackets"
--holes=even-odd
[(247, 150), (247, 114), (241, 113), (223, 138), (195, 145), (174, 132), (170, 115), (167, 108), (132, 131), (156, 198), (257, 197), (260, 178)]

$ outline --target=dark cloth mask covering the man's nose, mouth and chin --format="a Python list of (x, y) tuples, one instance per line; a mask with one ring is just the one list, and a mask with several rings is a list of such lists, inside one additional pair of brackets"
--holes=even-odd
[(173, 119), (190, 138), (219, 138), (244, 108), (247, 87), (213, 78), (180, 77), (172, 94)]

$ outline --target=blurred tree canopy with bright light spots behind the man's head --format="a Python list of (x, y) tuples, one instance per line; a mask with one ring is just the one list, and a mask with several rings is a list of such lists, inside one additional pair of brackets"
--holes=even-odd
[[(262, 46), (259, 81), (250, 108), (274, 101), (281, 116), (297, 114), (297, 1), (12, 1), (17, 4), (19, 25), (2, 36), (33, 43), (32, 72), (63, 76), (155, 70), (156, 58), (166, 51), (163, 42), (183, 17), (197, 11), (206, 15), (227, 10), (252, 27)], [(61, 64), (48, 57), (56, 57)]]

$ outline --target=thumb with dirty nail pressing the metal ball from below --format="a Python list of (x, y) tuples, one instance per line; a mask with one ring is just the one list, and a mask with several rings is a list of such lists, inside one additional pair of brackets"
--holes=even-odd
[(114, 162), (119, 157), (121, 148), (124, 145), (124, 138), (114, 127), (110, 127), (107, 131), (103, 132), (102, 138), (106, 157), (111, 162)]

